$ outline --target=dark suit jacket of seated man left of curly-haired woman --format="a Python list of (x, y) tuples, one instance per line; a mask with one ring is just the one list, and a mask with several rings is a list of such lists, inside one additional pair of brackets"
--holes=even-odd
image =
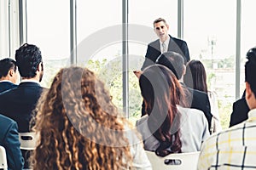
[(18, 123), (19, 132), (29, 132), (29, 123), (38, 98), (43, 92), (36, 82), (20, 82), (17, 88), (12, 88), (0, 94), (0, 113)]

